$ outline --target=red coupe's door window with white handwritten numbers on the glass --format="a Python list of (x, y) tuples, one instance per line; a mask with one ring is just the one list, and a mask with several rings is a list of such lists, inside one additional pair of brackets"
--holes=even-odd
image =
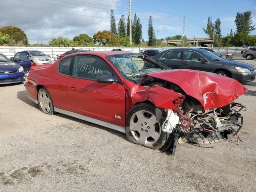
[(97, 80), (102, 75), (118, 76), (114, 70), (102, 59), (94, 56), (76, 56), (73, 76), (90, 80)]

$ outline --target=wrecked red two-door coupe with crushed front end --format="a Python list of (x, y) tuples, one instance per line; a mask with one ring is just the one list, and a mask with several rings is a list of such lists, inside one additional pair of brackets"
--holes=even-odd
[(81, 52), (33, 66), (25, 84), (42, 112), (59, 112), (124, 132), (130, 142), (175, 154), (177, 144), (238, 137), (247, 91), (236, 80), (171, 70), (131, 52)]

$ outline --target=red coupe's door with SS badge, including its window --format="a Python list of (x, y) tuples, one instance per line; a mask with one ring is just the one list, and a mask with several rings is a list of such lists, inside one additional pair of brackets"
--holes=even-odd
[(68, 80), (70, 111), (125, 126), (125, 90), (122, 83), (100, 83), (99, 76), (118, 76), (112, 67), (97, 56), (75, 57), (73, 75)]

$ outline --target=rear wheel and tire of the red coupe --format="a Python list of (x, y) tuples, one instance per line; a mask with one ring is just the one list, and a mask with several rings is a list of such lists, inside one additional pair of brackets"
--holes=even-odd
[(50, 115), (54, 114), (52, 98), (46, 88), (42, 87), (39, 89), (37, 98), (38, 98), (38, 105), (42, 112)]

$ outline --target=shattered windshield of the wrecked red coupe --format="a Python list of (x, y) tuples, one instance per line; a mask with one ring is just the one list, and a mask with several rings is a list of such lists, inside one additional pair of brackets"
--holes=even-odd
[(140, 82), (140, 80), (150, 72), (161, 70), (150, 62), (145, 61), (146, 63), (144, 63), (144, 60), (139, 58), (138, 54), (116, 54), (106, 56), (106, 58), (126, 80), (130, 80), (134, 83)]

